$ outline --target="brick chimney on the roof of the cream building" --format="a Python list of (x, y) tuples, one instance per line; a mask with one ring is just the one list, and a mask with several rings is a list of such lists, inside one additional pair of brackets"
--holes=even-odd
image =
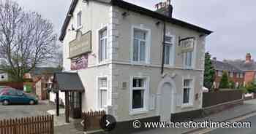
[(173, 17), (173, 5), (170, 3), (170, 0), (159, 2), (155, 5), (155, 8), (157, 9), (156, 12), (159, 12), (167, 17)]

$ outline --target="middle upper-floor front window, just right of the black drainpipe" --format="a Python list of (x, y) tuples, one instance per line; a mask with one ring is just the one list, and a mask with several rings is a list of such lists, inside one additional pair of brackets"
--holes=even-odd
[(174, 47), (173, 36), (165, 36), (165, 65), (173, 64)]

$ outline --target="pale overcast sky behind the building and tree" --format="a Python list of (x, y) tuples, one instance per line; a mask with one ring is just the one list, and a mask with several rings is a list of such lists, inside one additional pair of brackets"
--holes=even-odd
[[(56, 32), (72, 0), (15, 0), (26, 9), (37, 11), (53, 22)], [(126, 0), (154, 9), (164, 0)], [(207, 38), (206, 50), (219, 60), (244, 59), (251, 52), (256, 59), (255, 0), (172, 0), (173, 16), (214, 31)]]

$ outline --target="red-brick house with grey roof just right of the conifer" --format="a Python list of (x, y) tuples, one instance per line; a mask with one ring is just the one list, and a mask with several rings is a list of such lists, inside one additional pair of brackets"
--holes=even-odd
[(214, 88), (219, 88), (219, 82), (222, 79), (222, 74), (224, 71), (227, 71), (228, 79), (230, 82), (235, 82), (236, 87), (244, 84), (244, 71), (242, 71), (240, 68), (227, 63), (227, 60), (219, 61), (217, 58), (213, 58), (211, 61), (215, 69)]

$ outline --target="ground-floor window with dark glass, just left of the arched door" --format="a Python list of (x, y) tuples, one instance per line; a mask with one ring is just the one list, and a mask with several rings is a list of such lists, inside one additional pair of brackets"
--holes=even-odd
[(147, 78), (134, 77), (132, 79), (132, 92), (131, 92), (131, 110), (132, 112), (146, 111), (146, 101), (148, 98)]

